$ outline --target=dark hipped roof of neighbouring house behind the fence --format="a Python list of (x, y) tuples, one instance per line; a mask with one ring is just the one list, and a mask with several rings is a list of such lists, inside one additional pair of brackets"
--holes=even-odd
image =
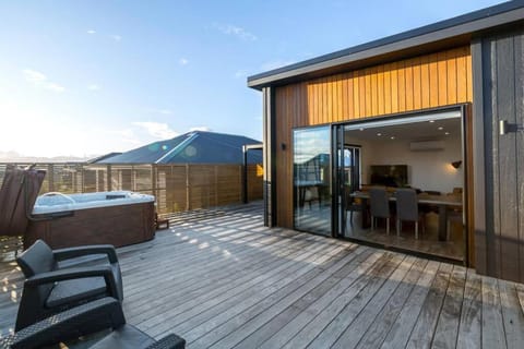
[[(194, 131), (105, 158), (97, 164), (242, 164), (242, 145), (250, 144), (260, 144), (260, 141)], [(248, 164), (261, 163), (261, 152), (248, 153)]]

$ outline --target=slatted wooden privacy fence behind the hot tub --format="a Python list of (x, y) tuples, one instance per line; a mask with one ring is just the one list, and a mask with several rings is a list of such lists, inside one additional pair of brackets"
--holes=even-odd
[[(0, 180), (5, 166), (0, 164)], [(27, 164), (17, 164), (27, 166)], [(241, 165), (36, 164), (47, 171), (40, 194), (130, 190), (156, 197), (159, 214), (242, 202)], [(262, 198), (261, 165), (248, 165), (247, 197)]]

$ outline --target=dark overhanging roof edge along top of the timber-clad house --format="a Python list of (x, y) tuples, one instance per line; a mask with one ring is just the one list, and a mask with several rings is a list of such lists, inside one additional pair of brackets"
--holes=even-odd
[(524, 20), (524, 1), (509, 1), (479, 11), (388, 36), (333, 53), (312, 58), (248, 77), (248, 86), (282, 85), (306, 79), (394, 61), (458, 45), (476, 33), (516, 24)]

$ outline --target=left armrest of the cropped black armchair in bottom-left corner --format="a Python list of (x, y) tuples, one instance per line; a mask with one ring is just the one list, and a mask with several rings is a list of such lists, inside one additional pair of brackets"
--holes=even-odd
[(126, 323), (120, 302), (107, 297), (51, 315), (0, 339), (1, 348), (41, 348)]

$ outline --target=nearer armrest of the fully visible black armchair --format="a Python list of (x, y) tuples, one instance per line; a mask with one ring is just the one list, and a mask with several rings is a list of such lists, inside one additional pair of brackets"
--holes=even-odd
[(109, 294), (119, 299), (119, 291), (117, 288), (117, 282), (115, 281), (115, 276), (112, 274), (112, 268), (109, 265), (104, 266), (93, 266), (93, 267), (74, 267), (58, 269), (53, 272), (40, 273), (35, 276), (29, 277), (25, 280), (24, 287), (37, 287), (45, 284), (86, 278), (86, 277), (96, 277), (102, 276), (106, 281), (106, 287), (109, 290)]

